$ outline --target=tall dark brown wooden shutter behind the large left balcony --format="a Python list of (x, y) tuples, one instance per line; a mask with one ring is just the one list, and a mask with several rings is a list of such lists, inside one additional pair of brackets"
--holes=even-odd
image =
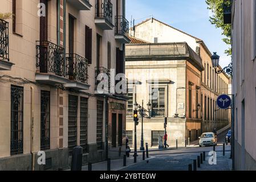
[(46, 6), (46, 16), (40, 16), (40, 72), (47, 73), (48, 61), (48, 0), (40, 0)]

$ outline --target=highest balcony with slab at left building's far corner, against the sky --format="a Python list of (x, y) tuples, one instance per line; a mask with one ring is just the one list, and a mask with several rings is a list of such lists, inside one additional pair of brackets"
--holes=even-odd
[(128, 38), (129, 22), (124, 16), (116, 16), (115, 18), (115, 39), (121, 43), (130, 43)]

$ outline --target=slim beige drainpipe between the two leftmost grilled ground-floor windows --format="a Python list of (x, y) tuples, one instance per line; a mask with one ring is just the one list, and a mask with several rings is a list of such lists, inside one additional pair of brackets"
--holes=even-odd
[(32, 156), (31, 168), (32, 168), (32, 171), (35, 171), (35, 156), (33, 154), (33, 151), (34, 151), (34, 145), (33, 145), (33, 140), (34, 140), (34, 87), (31, 86), (30, 89), (31, 89), (30, 154)]

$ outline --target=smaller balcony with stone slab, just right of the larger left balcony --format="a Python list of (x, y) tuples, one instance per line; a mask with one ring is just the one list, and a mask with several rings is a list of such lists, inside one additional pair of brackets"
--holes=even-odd
[(88, 60), (78, 54), (67, 54), (67, 75), (69, 80), (66, 83), (67, 88), (76, 90), (88, 90)]

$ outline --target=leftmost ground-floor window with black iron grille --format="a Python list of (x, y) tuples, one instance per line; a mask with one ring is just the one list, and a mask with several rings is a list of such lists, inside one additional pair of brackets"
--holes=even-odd
[(11, 85), (11, 155), (23, 153), (23, 87)]

